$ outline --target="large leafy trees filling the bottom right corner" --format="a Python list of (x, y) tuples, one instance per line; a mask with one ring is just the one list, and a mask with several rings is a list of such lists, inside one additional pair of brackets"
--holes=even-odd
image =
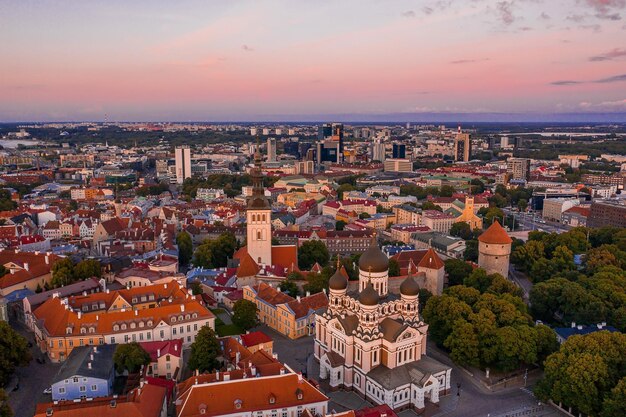
[(543, 401), (600, 417), (626, 415), (626, 335), (600, 331), (569, 337), (545, 361), (535, 387)]

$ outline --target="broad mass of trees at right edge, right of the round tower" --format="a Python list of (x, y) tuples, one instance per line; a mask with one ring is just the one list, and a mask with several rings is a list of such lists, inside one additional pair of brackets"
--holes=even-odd
[(511, 260), (535, 283), (535, 319), (561, 326), (607, 322), (626, 331), (626, 229), (530, 232)]

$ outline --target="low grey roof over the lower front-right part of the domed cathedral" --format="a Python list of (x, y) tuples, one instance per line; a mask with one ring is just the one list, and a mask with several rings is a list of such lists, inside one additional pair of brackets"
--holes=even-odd
[(379, 365), (372, 369), (367, 376), (384, 389), (395, 389), (410, 383), (423, 386), (432, 374), (448, 369), (450, 369), (449, 366), (428, 356), (422, 356), (419, 361), (410, 362), (394, 369)]

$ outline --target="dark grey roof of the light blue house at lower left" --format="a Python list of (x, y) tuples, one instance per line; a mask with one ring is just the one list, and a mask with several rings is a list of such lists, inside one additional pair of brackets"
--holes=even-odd
[[(117, 345), (80, 346), (72, 350), (52, 383), (69, 379), (75, 375), (87, 378), (109, 379), (113, 372), (113, 354)], [(93, 354), (93, 361), (91, 360)], [(91, 363), (91, 369), (89, 369)]]

